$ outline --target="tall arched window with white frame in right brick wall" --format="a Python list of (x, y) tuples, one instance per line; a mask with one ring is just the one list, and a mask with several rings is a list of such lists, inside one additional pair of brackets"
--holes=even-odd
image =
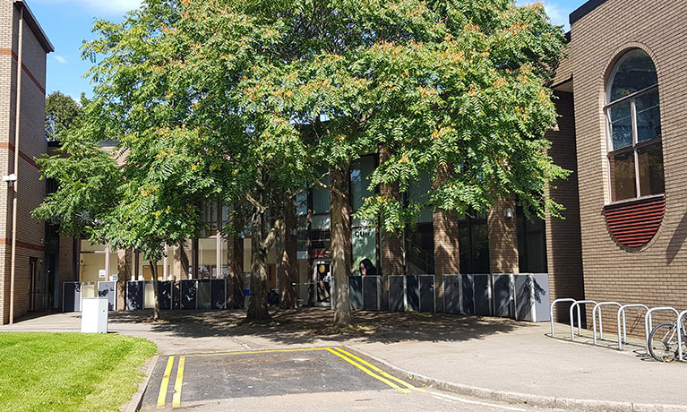
[(644, 50), (615, 64), (605, 103), (611, 201), (664, 193), (658, 79)]

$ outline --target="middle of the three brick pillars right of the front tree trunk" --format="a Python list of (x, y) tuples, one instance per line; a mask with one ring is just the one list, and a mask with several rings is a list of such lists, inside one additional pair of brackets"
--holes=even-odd
[[(443, 185), (448, 177), (448, 167), (437, 171), (433, 188)], [(434, 211), (434, 288), (436, 289), (436, 311), (443, 312), (443, 276), (460, 273), (459, 219), (451, 211)]]

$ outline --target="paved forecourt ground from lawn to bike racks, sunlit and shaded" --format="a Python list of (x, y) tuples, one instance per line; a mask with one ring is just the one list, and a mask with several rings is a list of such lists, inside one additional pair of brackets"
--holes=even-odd
[[(338, 404), (340, 398), (342, 407), (335, 410), (366, 406), (399, 410), (391, 406), (405, 404), (422, 407), (418, 410), (687, 410), (687, 365), (657, 363), (642, 354), (640, 345), (618, 351), (611, 341), (603, 342), (605, 347), (588, 344), (588, 335), (574, 343), (553, 339), (546, 336), (549, 323), (359, 312), (353, 316), (355, 326), (337, 330), (329, 326), (332, 316), (326, 309), (278, 311), (268, 324), (244, 324), (244, 315), (241, 311), (172, 312), (163, 314), (166, 322), (151, 323), (150, 313), (111, 313), (109, 326), (158, 344), (160, 357), (146, 391), (148, 404), (151, 393), (159, 391), (170, 356), (176, 359), (167, 387), (173, 398), (169, 388), (176, 385), (174, 373), (185, 356), (186, 371), (191, 372), (186, 372), (190, 374), (183, 383), (182, 408), (239, 410), (272, 402), (276, 410), (291, 410), (288, 405), (296, 404), (308, 410), (309, 402), (336, 399)], [(79, 322), (78, 313), (59, 313), (16, 322), (0, 331), (78, 331)], [(569, 337), (566, 326), (557, 325), (557, 330), (557, 336), (565, 337), (567, 332)], [(328, 350), (264, 352), (305, 348), (341, 348), (444, 397), (384, 388), (383, 382)], [(258, 388), (250, 382), (258, 382)], [(318, 385), (324, 385), (322, 390)], [(332, 393), (337, 396), (332, 398)], [(399, 398), (400, 394), (404, 396)]]

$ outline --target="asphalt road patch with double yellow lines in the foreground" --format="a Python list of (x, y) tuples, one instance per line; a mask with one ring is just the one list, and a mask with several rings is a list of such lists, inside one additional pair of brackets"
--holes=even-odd
[(345, 348), (160, 357), (143, 411), (549, 411), (423, 387)]

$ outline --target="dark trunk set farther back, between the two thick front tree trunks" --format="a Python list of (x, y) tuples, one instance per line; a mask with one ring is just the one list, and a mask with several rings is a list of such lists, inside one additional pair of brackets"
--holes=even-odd
[(292, 198), (286, 202), (284, 225), (279, 233), (283, 245), (279, 265), (279, 307), (282, 309), (298, 307), (298, 240), (292, 233), (297, 228), (296, 200)]

